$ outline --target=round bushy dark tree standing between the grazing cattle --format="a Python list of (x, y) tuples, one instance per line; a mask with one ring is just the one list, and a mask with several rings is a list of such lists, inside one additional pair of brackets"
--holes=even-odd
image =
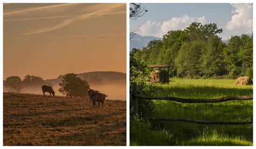
[(70, 98), (86, 97), (88, 95), (87, 91), (90, 89), (89, 84), (74, 73), (65, 74), (59, 86), (58, 91), (65, 96), (70, 96)]

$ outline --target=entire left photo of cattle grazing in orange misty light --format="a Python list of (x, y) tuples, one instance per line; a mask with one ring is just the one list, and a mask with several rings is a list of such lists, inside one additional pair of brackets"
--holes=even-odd
[(3, 145), (126, 146), (126, 4), (3, 4)]

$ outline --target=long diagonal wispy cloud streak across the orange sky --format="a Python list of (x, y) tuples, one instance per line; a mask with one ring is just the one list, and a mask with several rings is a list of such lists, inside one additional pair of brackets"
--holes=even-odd
[(122, 5), (125, 5), (125, 4), (113, 4), (112, 6), (108, 5), (107, 7), (105, 5), (102, 5), (102, 4), (93, 5), (92, 7), (96, 11), (92, 11), (92, 12), (89, 12), (89, 13), (86, 13), (86, 14), (83, 14), (83, 15), (79, 15), (77, 17), (73, 17), (73, 18), (70, 18), (70, 19), (63, 20), (61, 23), (59, 23), (59, 24), (57, 24), (55, 26), (43, 27), (42, 29), (39, 29), (37, 31), (32, 31), (32, 32), (24, 33), (24, 35), (36, 34), (36, 33), (42, 33), (42, 32), (48, 32), (48, 31), (52, 31), (52, 30), (57, 30), (57, 29), (60, 29), (60, 28), (62, 28), (64, 26), (66, 26), (66, 25), (69, 25), (71, 23), (77, 22), (79, 20), (86, 19), (87, 17), (90, 17), (90, 16), (95, 16), (95, 15), (101, 14), (103, 12), (112, 10), (112, 9), (117, 8), (118, 6), (122, 6)]

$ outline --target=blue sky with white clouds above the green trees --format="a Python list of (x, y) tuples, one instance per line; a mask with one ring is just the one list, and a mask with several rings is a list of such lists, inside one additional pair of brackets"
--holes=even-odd
[(149, 10), (137, 20), (130, 19), (130, 29), (142, 36), (162, 37), (170, 30), (182, 30), (192, 22), (216, 23), (224, 39), (232, 35), (252, 33), (252, 4), (169, 3), (142, 4)]

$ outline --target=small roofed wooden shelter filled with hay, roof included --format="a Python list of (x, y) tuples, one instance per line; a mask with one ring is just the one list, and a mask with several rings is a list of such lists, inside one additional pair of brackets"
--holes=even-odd
[[(170, 75), (169, 75), (169, 65), (151, 65), (152, 68), (150, 74), (151, 83), (169, 83)], [(154, 68), (158, 68), (154, 69)], [(167, 70), (166, 70), (167, 68)]]

